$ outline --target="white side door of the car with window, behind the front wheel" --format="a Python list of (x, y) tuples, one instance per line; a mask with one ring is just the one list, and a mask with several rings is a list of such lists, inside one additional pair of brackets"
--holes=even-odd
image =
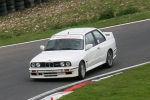
[(92, 67), (98, 62), (98, 56), (97, 53), (99, 52), (99, 49), (96, 47), (96, 41), (93, 37), (93, 34), (87, 33), (85, 35), (85, 46), (87, 44), (93, 44), (93, 47), (90, 48), (89, 50), (86, 50), (87, 53), (87, 67)]

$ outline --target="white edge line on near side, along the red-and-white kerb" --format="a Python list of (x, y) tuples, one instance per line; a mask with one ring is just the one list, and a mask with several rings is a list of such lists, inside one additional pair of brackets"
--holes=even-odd
[(32, 97), (32, 98), (30, 98), (30, 99), (28, 99), (28, 100), (35, 100), (35, 99), (41, 98), (41, 97), (43, 97), (43, 96), (45, 96), (45, 95), (48, 95), (48, 94), (57, 92), (57, 91), (59, 91), (59, 90), (65, 89), (65, 88), (67, 88), (67, 87), (70, 87), (70, 86), (73, 86), (73, 85), (76, 85), (76, 84), (79, 84), (79, 83), (84, 82), (84, 81), (93, 80), (93, 79), (95, 79), (95, 78), (99, 78), (99, 77), (107, 76), (107, 75), (110, 75), (110, 74), (118, 73), (118, 72), (125, 71), (125, 70), (127, 70), (127, 69), (131, 69), (131, 68), (138, 67), (138, 66), (141, 66), (141, 65), (144, 65), (144, 64), (148, 64), (148, 63), (150, 63), (150, 62), (145, 62), (145, 63), (133, 65), (133, 66), (130, 66), (130, 67), (122, 68), (122, 69), (119, 69), (119, 70), (115, 70), (115, 71), (112, 71), (112, 72), (108, 72), (108, 73), (105, 73), (105, 74), (101, 74), (101, 75), (98, 75), (98, 76), (94, 76), (94, 77), (91, 77), (91, 78), (87, 78), (87, 79), (85, 79), (85, 80), (81, 80), (81, 81), (78, 81), (78, 82), (74, 82), (74, 83), (71, 83), (71, 84), (67, 84), (67, 85), (64, 85), (64, 86), (55, 88), (55, 89), (53, 89), (53, 90), (47, 91), (47, 92), (45, 92), (45, 93), (42, 93), (42, 94), (40, 94), (40, 95), (37, 95), (37, 96), (35, 96), (35, 97)]

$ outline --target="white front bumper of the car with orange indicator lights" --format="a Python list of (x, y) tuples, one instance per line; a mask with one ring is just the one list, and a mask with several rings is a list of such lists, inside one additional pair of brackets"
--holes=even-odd
[(78, 76), (78, 66), (59, 68), (29, 68), (30, 78), (68, 78)]

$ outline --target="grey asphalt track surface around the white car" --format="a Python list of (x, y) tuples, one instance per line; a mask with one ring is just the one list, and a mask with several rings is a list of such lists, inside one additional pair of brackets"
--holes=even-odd
[[(86, 78), (150, 61), (150, 20), (102, 31), (114, 33), (117, 57), (113, 68), (98, 67)], [(47, 40), (0, 48), (0, 100), (27, 100), (43, 92), (78, 81), (76, 78), (32, 80), (29, 62)]]

